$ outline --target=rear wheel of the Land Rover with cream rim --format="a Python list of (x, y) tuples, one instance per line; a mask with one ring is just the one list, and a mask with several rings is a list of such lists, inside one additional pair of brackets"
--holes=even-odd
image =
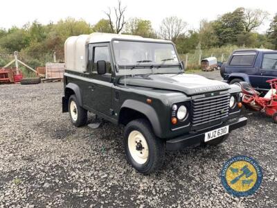
[(75, 94), (69, 97), (69, 116), (71, 122), (76, 127), (80, 127), (87, 123), (87, 110), (84, 110), (84, 108), (78, 105)]

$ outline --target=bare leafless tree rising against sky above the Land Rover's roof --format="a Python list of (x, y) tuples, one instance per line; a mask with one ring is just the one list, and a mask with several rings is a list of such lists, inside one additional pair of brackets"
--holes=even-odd
[(111, 31), (112, 33), (120, 33), (123, 30), (124, 25), (126, 24), (125, 21), (125, 11), (126, 11), (126, 6), (121, 5), (121, 1), (118, 0), (118, 8), (114, 7), (114, 21), (112, 21), (112, 15), (111, 15), (111, 8), (108, 8), (109, 11), (105, 12), (109, 19), (109, 25), (111, 26)]

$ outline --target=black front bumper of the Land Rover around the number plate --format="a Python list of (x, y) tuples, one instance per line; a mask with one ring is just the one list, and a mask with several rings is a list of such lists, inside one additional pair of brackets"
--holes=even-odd
[(199, 132), (193, 132), (193, 133), (190, 133), (189, 135), (183, 135), (183, 136), (177, 137), (175, 139), (170, 139), (170, 140), (166, 141), (166, 149), (167, 150), (181, 150), (188, 146), (200, 145), (201, 143), (204, 143), (205, 132), (223, 127), (225, 125), (229, 125), (229, 133), (230, 133), (232, 130), (235, 130), (244, 125), (247, 125), (247, 118), (242, 117), (239, 119), (231, 119), (230, 121), (226, 121), (226, 122), (222, 123), (221, 125), (217, 125), (216, 127), (213, 127), (213, 128), (209, 128), (209, 129), (202, 130)]

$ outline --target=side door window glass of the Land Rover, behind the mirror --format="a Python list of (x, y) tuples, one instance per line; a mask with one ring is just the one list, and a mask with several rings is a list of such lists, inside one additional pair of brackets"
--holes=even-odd
[(93, 71), (97, 71), (96, 67), (99, 60), (105, 60), (107, 65), (107, 73), (111, 73), (111, 58), (109, 57), (108, 46), (94, 47)]

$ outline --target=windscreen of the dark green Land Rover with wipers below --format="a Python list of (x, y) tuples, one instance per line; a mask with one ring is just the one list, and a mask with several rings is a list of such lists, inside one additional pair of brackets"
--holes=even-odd
[(119, 66), (178, 65), (172, 44), (114, 40), (114, 55)]

